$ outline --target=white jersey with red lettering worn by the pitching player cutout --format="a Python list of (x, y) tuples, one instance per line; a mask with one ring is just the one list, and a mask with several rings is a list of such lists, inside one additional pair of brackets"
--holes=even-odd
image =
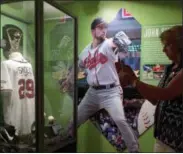
[(110, 46), (110, 40), (106, 39), (96, 48), (89, 44), (79, 56), (79, 67), (85, 68), (89, 85), (119, 85), (119, 77), (115, 62), (118, 54)]

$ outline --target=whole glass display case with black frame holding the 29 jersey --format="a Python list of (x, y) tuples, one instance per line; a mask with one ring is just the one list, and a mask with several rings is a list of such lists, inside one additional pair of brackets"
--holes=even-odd
[(76, 19), (53, 1), (0, 7), (0, 152), (58, 151), (76, 142)]

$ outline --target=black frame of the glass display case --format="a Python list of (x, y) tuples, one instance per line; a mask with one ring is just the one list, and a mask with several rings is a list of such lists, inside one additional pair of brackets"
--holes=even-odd
[[(2, 4), (16, 3), (16, 2), (24, 2), (29, 0), (2, 0), (0, 2), (0, 10)], [(33, 0), (34, 8), (35, 8), (35, 88), (36, 88), (36, 150), (35, 152), (65, 152), (62, 151), (62, 148), (68, 146), (69, 144), (75, 144), (77, 142), (77, 102), (78, 102), (78, 90), (77, 90), (77, 18), (70, 14), (67, 10), (65, 10), (62, 6), (58, 5), (55, 0)], [(65, 143), (60, 144), (60, 146), (55, 147), (54, 149), (50, 149), (49, 151), (45, 151), (44, 149), (44, 21), (43, 21), (43, 3), (47, 2), (51, 6), (57, 8), (58, 10), (68, 14), (74, 20), (74, 107), (73, 107), (73, 124), (74, 124), (74, 137), (65, 141)], [(1, 12), (3, 15), (3, 13)], [(5, 14), (8, 16), (7, 14)], [(12, 18), (12, 17), (11, 17)], [(15, 20), (27, 23), (26, 21), (13, 17)], [(76, 147), (76, 146), (75, 146)], [(76, 152), (76, 149), (72, 152)]]

